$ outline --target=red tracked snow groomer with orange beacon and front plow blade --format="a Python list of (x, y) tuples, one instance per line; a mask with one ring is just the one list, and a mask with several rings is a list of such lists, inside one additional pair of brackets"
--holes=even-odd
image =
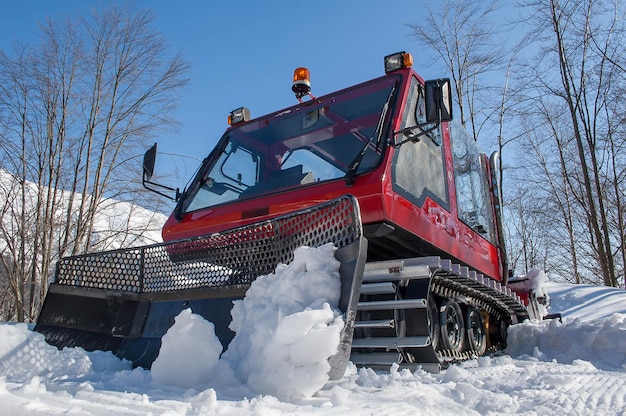
[[(346, 326), (331, 377), (348, 360), (437, 370), (504, 348), (529, 313), (527, 294), (507, 288), (498, 155), (452, 123), (449, 80), (411, 66), (389, 55), (384, 76), (321, 97), (298, 68), (295, 106), (233, 111), (176, 192), (165, 243), (62, 259), (36, 330), (150, 367), (190, 307), (226, 349), (232, 301), (295, 248), (332, 242)], [(144, 185), (165, 192), (151, 182), (155, 154)]]

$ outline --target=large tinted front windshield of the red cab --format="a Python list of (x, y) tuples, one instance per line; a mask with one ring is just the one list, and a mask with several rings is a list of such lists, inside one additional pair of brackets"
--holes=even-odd
[(397, 81), (385, 77), (231, 129), (190, 184), (183, 212), (343, 178), (351, 166), (352, 174), (373, 169)]

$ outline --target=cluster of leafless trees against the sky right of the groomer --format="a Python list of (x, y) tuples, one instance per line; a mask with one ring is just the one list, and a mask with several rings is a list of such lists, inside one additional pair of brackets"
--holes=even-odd
[[(503, 26), (492, 22), (495, 1), (449, 0), (409, 26), (452, 74), (461, 121), (474, 138), (492, 125), (501, 154), (511, 143), (519, 148), (516, 159), (501, 159), (510, 164), (503, 190), (512, 264), (539, 262), (568, 281), (597, 283), (600, 276), (617, 286), (626, 263), (624, 5), (523, 6), (526, 19), (506, 22), (510, 31), (527, 28), (513, 48), (496, 46), (506, 42)], [(522, 203), (522, 195), (542, 208)]]

